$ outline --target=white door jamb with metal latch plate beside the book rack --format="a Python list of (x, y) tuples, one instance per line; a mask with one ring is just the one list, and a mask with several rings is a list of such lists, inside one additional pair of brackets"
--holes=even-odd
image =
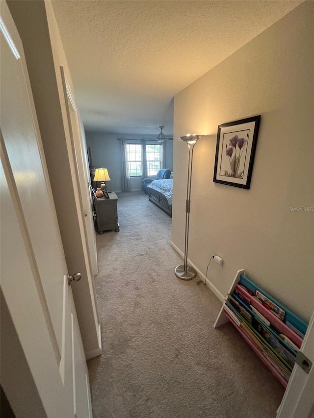
[[(314, 363), (314, 313), (301, 351)], [(294, 366), (277, 418), (314, 418), (314, 366), (308, 374)]]

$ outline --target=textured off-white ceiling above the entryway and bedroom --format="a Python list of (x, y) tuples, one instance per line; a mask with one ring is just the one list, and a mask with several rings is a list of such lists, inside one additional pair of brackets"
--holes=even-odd
[(172, 135), (173, 97), (301, 2), (53, 0), (85, 127)]

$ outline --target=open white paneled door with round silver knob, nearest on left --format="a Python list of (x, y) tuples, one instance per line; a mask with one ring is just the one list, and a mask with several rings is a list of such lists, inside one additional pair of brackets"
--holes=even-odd
[[(1, 290), (47, 416), (91, 417), (86, 361), (24, 52), (5, 2), (0, 29)], [(16, 417), (23, 417), (14, 388), (2, 385)]]

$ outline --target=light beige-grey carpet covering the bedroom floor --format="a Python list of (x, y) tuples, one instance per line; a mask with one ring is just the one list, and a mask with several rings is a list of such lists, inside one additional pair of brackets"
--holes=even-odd
[(176, 278), (171, 219), (119, 194), (120, 232), (97, 236), (103, 355), (88, 362), (94, 418), (274, 418), (284, 389), (204, 284)]

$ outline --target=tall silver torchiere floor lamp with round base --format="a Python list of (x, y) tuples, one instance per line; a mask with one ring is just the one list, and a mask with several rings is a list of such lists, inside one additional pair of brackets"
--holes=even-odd
[(186, 203), (185, 203), (185, 240), (184, 240), (184, 264), (175, 268), (175, 274), (181, 280), (192, 280), (196, 276), (196, 270), (187, 264), (187, 248), (188, 248), (188, 229), (190, 221), (190, 206), (191, 206), (191, 180), (192, 180), (192, 165), (193, 165), (193, 149), (197, 141), (204, 135), (186, 135), (180, 136), (182, 141), (186, 142), (188, 146), (188, 171), (187, 171), (187, 189), (186, 189)]

